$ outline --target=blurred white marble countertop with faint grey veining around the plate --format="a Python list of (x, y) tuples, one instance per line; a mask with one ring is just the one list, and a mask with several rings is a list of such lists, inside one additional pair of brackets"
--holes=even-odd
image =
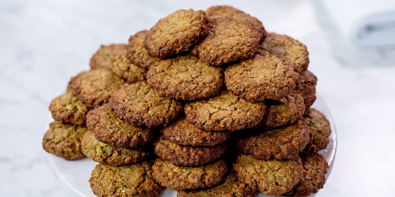
[(177, 9), (213, 4), (232, 4), (307, 45), (338, 132), (332, 173), (316, 196), (395, 195), (395, 63), (344, 65), (311, 2), (13, 0), (0, 7), (0, 196), (66, 197), (41, 147), (48, 106), (89, 69), (100, 44), (126, 43)]

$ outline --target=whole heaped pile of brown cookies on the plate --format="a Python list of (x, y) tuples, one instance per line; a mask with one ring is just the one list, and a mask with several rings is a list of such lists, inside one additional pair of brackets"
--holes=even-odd
[(51, 102), (45, 151), (98, 162), (105, 196), (308, 196), (331, 133), (305, 45), (230, 6), (179, 10), (102, 46)]

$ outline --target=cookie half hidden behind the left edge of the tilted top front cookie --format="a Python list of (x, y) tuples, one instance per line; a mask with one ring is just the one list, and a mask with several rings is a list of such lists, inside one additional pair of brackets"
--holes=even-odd
[(148, 30), (143, 30), (130, 36), (128, 47), (126, 48), (129, 61), (147, 70), (159, 60), (159, 58), (149, 56), (147, 49), (144, 47), (144, 39), (148, 33)]

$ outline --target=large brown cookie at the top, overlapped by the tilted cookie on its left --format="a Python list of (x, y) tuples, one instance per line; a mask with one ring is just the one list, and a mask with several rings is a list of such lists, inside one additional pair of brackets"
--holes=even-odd
[(261, 34), (250, 22), (216, 18), (210, 20), (210, 25), (209, 35), (191, 51), (203, 62), (221, 66), (252, 58), (258, 52)]

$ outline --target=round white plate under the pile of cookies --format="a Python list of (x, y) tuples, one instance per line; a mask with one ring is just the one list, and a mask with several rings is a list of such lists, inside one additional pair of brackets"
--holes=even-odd
[[(329, 164), (328, 173), (325, 175), (325, 177), (328, 178), (329, 173), (331, 173), (331, 169), (333, 167), (333, 161), (336, 152), (335, 124), (333, 123), (333, 119), (331, 117), (331, 114), (329, 113), (329, 109), (319, 95), (317, 95), (317, 100), (316, 102), (314, 102), (312, 108), (316, 108), (320, 112), (324, 113), (324, 115), (327, 117), (331, 124), (332, 133), (331, 136), (329, 136), (329, 144), (325, 150), (320, 151), (320, 153), (325, 157), (326, 161)], [(48, 124), (52, 121), (53, 119), (50, 118), (48, 120)], [(63, 158), (56, 157), (53, 154), (49, 154), (49, 162), (51, 163), (51, 167), (56, 179), (61, 184), (62, 188), (66, 190), (69, 196), (96, 197), (96, 195), (94, 195), (92, 193), (92, 190), (90, 189), (88, 180), (90, 178), (90, 173), (98, 163), (92, 161), (89, 158), (77, 161), (66, 161)], [(177, 191), (164, 190), (160, 196), (176, 197)], [(265, 195), (259, 192), (258, 197), (264, 196)]]

